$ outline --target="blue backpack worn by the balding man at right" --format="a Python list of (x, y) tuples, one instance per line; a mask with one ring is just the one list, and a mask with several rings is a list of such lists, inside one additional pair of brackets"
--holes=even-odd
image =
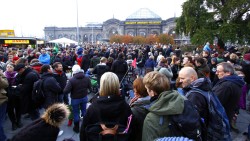
[(231, 140), (229, 120), (218, 97), (212, 91), (206, 92), (197, 88), (192, 88), (188, 91), (186, 97), (188, 97), (191, 92), (203, 95), (208, 103), (207, 140)]

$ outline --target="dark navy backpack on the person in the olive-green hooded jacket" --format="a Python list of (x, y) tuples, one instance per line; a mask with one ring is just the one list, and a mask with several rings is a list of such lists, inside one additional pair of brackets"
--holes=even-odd
[(182, 114), (171, 115), (169, 122), (170, 136), (188, 137), (201, 141), (201, 118), (195, 106), (189, 101), (184, 101)]

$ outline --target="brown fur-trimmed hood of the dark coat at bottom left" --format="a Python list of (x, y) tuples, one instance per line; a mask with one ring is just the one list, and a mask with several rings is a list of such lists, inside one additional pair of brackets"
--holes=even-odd
[(42, 115), (42, 119), (55, 127), (59, 127), (68, 118), (69, 110), (65, 104), (58, 103), (50, 106)]

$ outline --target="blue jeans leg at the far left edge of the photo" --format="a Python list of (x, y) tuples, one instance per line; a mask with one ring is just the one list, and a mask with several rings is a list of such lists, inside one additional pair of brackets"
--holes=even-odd
[(3, 130), (3, 122), (5, 120), (6, 108), (7, 108), (7, 102), (0, 105), (0, 141), (6, 140), (6, 135), (4, 134)]

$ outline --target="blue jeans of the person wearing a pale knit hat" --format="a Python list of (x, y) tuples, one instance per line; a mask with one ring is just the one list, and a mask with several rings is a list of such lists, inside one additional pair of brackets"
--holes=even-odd
[(85, 96), (84, 98), (80, 98), (80, 99), (71, 99), (71, 106), (73, 108), (74, 122), (79, 122), (80, 110), (81, 110), (82, 117), (85, 116), (87, 103), (88, 103), (87, 96)]

